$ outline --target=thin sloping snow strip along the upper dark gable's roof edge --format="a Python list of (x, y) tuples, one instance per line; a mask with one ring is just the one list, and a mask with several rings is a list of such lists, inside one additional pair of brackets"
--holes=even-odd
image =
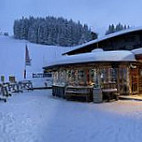
[[(125, 29), (125, 30), (122, 30), (122, 31), (119, 31), (119, 32), (115, 32), (115, 33), (112, 33), (112, 34), (108, 34), (108, 35), (105, 35), (105, 36), (100, 37), (98, 39), (95, 39), (95, 40), (92, 40), (90, 42), (84, 43), (82, 45), (78, 45), (78, 46), (74, 47), (72, 50), (70, 50), (68, 52), (83, 48), (83, 47), (91, 45), (91, 44), (98, 43), (100, 41), (103, 41), (103, 40), (106, 40), (106, 39), (109, 39), (109, 38), (112, 38), (112, 37), (120, 36), (120, 35), (127, 34), (127, 33), (130, 33), (130, 32), (141, 31), (141, 30), (142, 30), (142, 27), (137, 27), (137, 28), (135, 27), (135, 28), (129, 28), (129, 29)], [(68, 52), (65, 52), (64, 54), (67, 54)]]

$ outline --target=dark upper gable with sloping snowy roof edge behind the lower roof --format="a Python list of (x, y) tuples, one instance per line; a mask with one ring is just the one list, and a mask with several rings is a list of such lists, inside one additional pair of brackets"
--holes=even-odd
[(140, 48), (142, 47), (142, 27), (130, 28), (106, 35), (96, 40), (76, 46), (73, 50), (65, 52), (63, 55), (87, 53), (98, 47), (102, 48), (104, 51), (133, 50)]

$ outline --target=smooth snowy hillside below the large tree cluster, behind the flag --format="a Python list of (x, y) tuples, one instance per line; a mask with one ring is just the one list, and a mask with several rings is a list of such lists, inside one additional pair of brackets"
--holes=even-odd
[(27, 67), (28, 77), (32, 73), (42, 72), (42, 67), (61, 56), (69, 50), (65, 47), (39, 45), (25, 40), (16, 40), (12, 37), (0, 36), (0, 76), (8, 80), (9, 75), (14, 75), (17, 80), (23, 79), (25, 64), (25, 44), (27, 43), (32, 65)]

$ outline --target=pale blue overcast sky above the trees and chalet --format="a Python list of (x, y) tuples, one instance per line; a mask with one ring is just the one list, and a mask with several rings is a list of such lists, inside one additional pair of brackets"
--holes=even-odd
[(0, 29), (13, 34), (22, 16), (56, 16), (86, 23), (101, 33), (109, 24), (142, 26), (142, 0), (0, 0)]

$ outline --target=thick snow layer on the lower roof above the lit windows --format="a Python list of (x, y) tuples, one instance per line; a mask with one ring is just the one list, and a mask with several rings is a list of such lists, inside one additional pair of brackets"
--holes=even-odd
[(119, 50), (119, 51), (100, 51), (83, 53), (71, 56), (62, 56), (60, 59), (50, 63), (48, 67), (77, 64), (77, 63), (88, 63), (88, 62), (131, 62), (136, 61), (135, 55), (131, 51)]

